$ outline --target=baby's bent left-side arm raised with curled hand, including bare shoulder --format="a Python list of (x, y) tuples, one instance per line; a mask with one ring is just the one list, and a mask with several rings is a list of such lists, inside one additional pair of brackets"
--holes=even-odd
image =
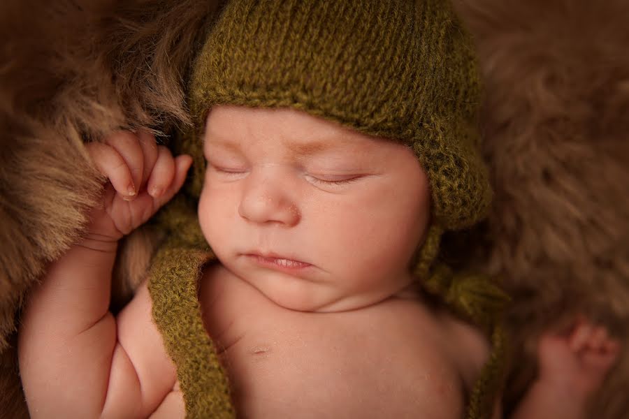
[(175, 385), (142, 286), (117, 318), (108, 307), (117, 242), (182, 186), (189, 156), (152, 135), (87, 146), (109, 181), (87, 235), (50, 265), (22, 314), (20, 375), (31, 417), (146, 417)]

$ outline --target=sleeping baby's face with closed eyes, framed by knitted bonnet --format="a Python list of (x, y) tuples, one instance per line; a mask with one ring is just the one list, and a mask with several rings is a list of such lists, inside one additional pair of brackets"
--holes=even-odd
[(408, 286), (426, 173), (407, 147), (296, 110), (216, 106), (198, 216), (221, 263), (282, 307), (344, 311)]

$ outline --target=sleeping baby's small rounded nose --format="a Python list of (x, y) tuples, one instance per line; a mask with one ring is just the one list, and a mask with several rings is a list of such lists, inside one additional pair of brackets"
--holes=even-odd
[(295, 226), (301, 219), (295, 196), (287, 179), (252, 173), (245, 180), (238, 214), (254, 223)]

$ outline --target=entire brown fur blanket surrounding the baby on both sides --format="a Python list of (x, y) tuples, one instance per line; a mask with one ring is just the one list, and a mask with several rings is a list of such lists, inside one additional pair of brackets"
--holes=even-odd
[[(484, 152), (496, 204), (447, 250), (498, 274), (516, 360), (507, 411), (535, 374), (542, 330), (576, 313), (608, 325), (623, 355), (592, 406), (629, 412), (629, 6), (624, 0), (465, 0), (486, 84)], [(185, 80), (216, 1), (0, 3), (0, 418), (26, 417), (19, 310), (45, 265), (80, 235), (101, 188), (82, 142), (187, 124)], [(150, 255), (120, 251), (124, 299)], [(142, 247), (143, 246), (138, 246)], [(475, 253), (458, 251), (461, 247)]]

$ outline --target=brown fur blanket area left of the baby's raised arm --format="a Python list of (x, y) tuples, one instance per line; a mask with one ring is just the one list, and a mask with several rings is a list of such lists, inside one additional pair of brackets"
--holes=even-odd
[(24, 416), (15, 313), (101, 188), (82, 140), (187, 123), (183, 79), (216, 3), (0, 1), (0, 418)]

